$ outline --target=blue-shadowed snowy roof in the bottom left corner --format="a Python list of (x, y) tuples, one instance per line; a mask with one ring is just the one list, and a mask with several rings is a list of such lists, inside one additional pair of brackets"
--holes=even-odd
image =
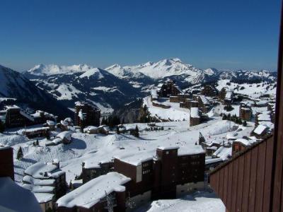
[(42, 211), (32, 192), (10, 177), (0, 177), (0, 211)]

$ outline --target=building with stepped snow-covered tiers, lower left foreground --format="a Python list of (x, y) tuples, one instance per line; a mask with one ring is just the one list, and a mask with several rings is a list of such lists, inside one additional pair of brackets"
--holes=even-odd
[(59, 168), (59, 161), (38, 162), (24, 172), (23, 187), (35, 194), (42, 211), (54, 209), (54, 203), (66, 194), (66, 174)]

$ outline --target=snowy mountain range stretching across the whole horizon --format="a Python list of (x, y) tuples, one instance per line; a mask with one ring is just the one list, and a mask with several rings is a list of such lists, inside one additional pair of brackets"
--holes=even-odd
[(45, 104), (59, 100), (59, 105), (74, 108), (74, 102), (84, 100), (96, 104), (103, 112), (119, 109), (125, 104), (148, 95), (151, 88), (171, 78), (182, 88), (200, 83), (230, 79), (240, 83), (275, 81), (277, 73), (270, 71), (221, 71), (198, 69), (178, 58), (146, 62), (136, 66), (114, 64), (106, 69), (86, 64), (58, 66), (40, 64), (18, 73), (0, 66), (0, 95), (28, 102)]

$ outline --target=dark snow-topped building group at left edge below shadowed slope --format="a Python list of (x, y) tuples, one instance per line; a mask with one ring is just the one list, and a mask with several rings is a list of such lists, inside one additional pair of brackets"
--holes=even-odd
[(43, 124), (47, 122), (47, 120), (56, 122), (57, 116), (42, 110), (32, 112), (29, 110), (23, 110), (17, 105), (5, 105), (3, 110), (0, 110), (0, 119), (7, 128), (11, 128)]

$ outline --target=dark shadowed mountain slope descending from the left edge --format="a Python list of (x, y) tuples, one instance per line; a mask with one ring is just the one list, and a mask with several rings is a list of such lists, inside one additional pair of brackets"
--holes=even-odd
[(0, 65), (0, 97), (16, 98), (17, 104), (34, 109), (46, 110), (54, 114), (69, 116), (66, 107), (25, 78), (23, 74)]

